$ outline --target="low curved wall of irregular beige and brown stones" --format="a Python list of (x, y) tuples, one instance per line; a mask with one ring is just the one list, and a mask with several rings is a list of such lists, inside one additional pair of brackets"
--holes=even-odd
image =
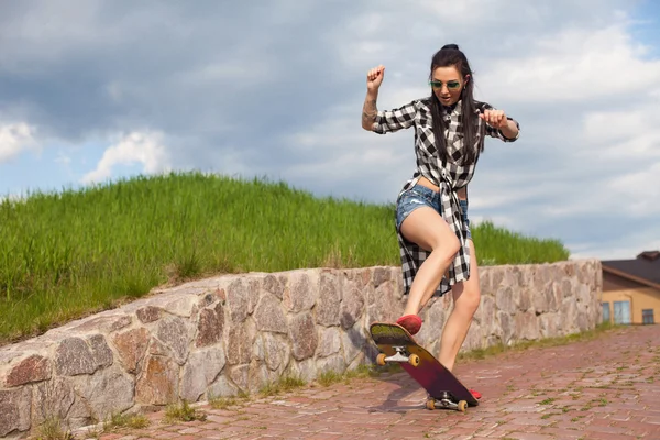
[[(482, 302), (462, 350), (564, 336), (600, 322), (597, 261), (480, 270)], [(400, 316), (399, 267), (207, 278), (0, 349), (0, 437), (45, 417), (72, 429), (111, 413), (255, 393), (374, 362), (369, 324)], [(451, 296), (431, 300), (418, 340), (433, 354)]]

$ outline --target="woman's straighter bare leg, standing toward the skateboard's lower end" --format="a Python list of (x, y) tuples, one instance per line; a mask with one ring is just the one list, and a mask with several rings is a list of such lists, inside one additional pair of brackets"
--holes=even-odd
[(472, 317), (481, 300), (474, 243), (469, 240), (468, 244), (470, 245), (470, 279), (452, 287), (454, 307), (442, 330), (440, 354), (438, 355), (438, 361), (450, 371), (454, 366), (457, 355), (465, 341)]

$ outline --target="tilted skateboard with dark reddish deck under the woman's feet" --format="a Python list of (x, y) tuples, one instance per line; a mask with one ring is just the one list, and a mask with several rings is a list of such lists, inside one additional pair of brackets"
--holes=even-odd
[(472, 393), (402, 326), (374, 322), (370, 333), (380, 351), (376, 363), (398, 362), (427, 391), (427, 409), (465, 413), (469, 406), (479, 405)]

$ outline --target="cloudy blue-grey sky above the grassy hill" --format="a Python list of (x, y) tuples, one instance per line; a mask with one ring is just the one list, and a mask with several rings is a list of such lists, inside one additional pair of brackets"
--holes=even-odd
[(362, 129), (366, 73), (396, 108), (455, 43), (520, 123), (486, 141), (471, 221), (634, 258), (660, 249), (659, 20), (653, 0), (2, 2), (0, 197), (198, 169), (393, 202), (414, 132)]

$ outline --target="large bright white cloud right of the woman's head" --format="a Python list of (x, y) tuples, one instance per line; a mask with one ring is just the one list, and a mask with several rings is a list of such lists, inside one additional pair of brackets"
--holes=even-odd
[[(508, 102), (584, 105), (594, 98), (625, 103), (658, 87), (660, 61), (644, 59), (627, 23), (604, 29), (565, 29), (540, 36), (531, 55), (496, 61), (480, 77), (493, 99)], [(504, 85), (504, 87), (503, 87)]]

